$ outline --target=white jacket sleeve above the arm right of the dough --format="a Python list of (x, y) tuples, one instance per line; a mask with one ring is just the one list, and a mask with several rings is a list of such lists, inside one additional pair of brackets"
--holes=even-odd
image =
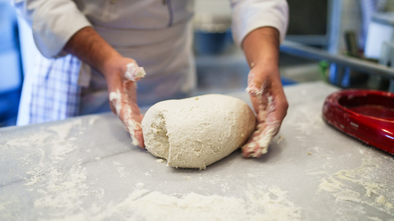
[(241, 46), (245, 36), (260, 27), (274, 27), (283, 42), (288, 25), (286, 0), (230, 0), (234, 41)]

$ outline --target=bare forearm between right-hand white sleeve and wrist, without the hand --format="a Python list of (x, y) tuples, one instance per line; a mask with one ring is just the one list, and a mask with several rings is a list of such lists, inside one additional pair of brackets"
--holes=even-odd
[(272, 27), (258, 28), (249, 33), (242, 42), (249, 67), (278, 68), (279, 32)]

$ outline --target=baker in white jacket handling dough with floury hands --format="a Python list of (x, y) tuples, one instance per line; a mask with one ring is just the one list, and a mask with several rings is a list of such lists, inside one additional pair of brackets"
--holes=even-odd
[[(34, 73), (24, 80), (19, 125), (97, 113), (111, 106), (133, 143), (144, 147), (138, 105), (187, 97), (195, 87), (191, 0), (12, 0), (12, 4), (31, 25), (42, 54), (35, 58)], [(278, 68), (288, 6), (285, 0), (230, 0), (230, 4), (234, 41), (250, 66), (247, 91), (258, 121), (242, 153), (258, 157), (279, 131), (288, 107)], [(130, 76), (141, 71), (139, 67), (144, 67), (146, 76)]]

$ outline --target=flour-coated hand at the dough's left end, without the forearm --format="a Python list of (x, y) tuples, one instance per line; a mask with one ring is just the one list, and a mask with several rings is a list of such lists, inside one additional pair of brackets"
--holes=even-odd
[(104, 65), (111, 110), (125, 125), (132, 143), (144, 147), (136, 96), (136, 81), (145, 75), (143, 68), (130, 58), (116, 57)]

